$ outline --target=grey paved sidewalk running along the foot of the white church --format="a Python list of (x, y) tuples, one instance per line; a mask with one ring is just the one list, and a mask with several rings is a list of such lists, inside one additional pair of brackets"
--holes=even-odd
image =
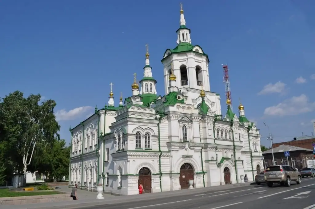
[[(231, 189), (243, 186), (249, 186), (253, 184), (253, 182), (246, 182), (246, 183), (239, 183), (239, 184), (228, 184), (228, 185), (221, 185), (221, 186), (213, 186), (213, 187), (203, 187), (203, 188), (196, 188), (196, 189), (183, 189), (183, 190), (176, 190), (176, 191), (167, 191), (167, 192), (158, 192), (158, 193), (149, 193), (149, 194), (142, 194), (137, 195), (137, 201), (139, 200), (152, 200), (158, 199), (163, 197), (171, 197), (171, 196), (178, 196), (178, 195), (188, 195), (188, 194), (197, 194), (209, 191), (216, 191), (222, 189)], [(67, 192), (72, 188), (61, 188), (57, 189), (59, 191)], [(81, 193), (82, 192), (82, 193)], [(29, 204), (29, 205), (2, 205), (1, 209), (59, 209), (59, 208), (80, 208), (85, 206), (97, 206), (97, 205), (105, 205), (105, 204), (112, 204), (116, 202), (129, 202), (135, 200), (135, 195), (125, 195), (125, 196), (114, 196), (114, 195), (106, 195), (103, 194), (105, 199), (98, 200), (96, 199), (97, 193), (95, 192), (88, 192), (84, 190), (78, 189), (78, 197), (79, 200), (77, 201), (61, 201), (61, 202), (49, 202), (49, 203), (37, 203), (37, 204)], [(80, 198), (82, 196), (82, 198)]]

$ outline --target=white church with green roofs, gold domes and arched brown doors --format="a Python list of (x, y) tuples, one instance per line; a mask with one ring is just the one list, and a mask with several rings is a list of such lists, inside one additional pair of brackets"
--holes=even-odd
[(238, 116), (231, 101), (223, 104), (210, 89), (209, 59), (192, 45), (184, 11), (180, 10), (177, 46), (163, 55), (165, 95), (157, 95), (148, 50), (140, 85), (119, 105), (108, 105), (74, 128), (69, 186), (105, 193), (134, 195), (237, 184), (247, 174), (254, 181), (263, 169), (259, 130)]

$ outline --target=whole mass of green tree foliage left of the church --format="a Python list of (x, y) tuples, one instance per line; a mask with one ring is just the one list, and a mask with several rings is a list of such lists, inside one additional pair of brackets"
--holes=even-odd
[(20, 91), (0, 98), (0, 181), (26, 171), (65, 173), (62, 167), (56, 168), (65, 161), (67, 147), (58, 134), (55, 106), (54, 100), (41, 102), (40, 94), (25, 98)]

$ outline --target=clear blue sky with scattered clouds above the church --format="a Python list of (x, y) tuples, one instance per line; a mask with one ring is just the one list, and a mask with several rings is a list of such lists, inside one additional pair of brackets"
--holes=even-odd
[[(210, 59), (211, 91), (225, 101), (221, 64), (230, 68), (232, 102), (274, 142), (311, 135), (315, 119), (315, 1), (183, 0), (192, 44)], [(108, 102), (114, 83), (131, 95), (143, 75), (149, 44), (157, 93), (164, 94), (160, 60), (176, 46), (177, 1), (3, 0), (0, 2), (0, 97), (15, 90), (57, 102), (61, 137)], [(297, 80), (296, 80), (297, 79)], [(226, 105), (221, 104), (222, 112)]]

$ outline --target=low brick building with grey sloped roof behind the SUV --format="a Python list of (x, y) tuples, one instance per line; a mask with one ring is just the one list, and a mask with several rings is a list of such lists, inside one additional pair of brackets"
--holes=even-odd
[[(312, 143), (311, 143), (312, 146)], [(290, 156), (288, 157), (289, 162), (287, 160), (287, 157), (284, 156), (284, 152), (289, 151)], [(264, 156), (264, 166), (265, 168), (268, 165), (272, 165), (272, 150), (267, 150), (262, 153)], [(275, 159), (275, 165), (290, 165), (294, 168), (297, 168), (301, 170), (302, 168), (307, 167), (307, 160), (312, 160), (314, 158), (313, 150), (312, 149), (306, 149), (296, 146), (290, 146), (286, 144), (282, 144), (280, 146), (277, 146), (273, 149), (273, 155)]]

